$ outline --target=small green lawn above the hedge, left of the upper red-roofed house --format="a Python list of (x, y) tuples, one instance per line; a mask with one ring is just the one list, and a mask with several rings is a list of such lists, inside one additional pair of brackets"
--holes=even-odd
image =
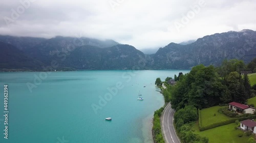
[[(224, 107), (224, 106), (213, 106), (210, 108), (205, 108), (205, 109), (200, 110), (202, 126), (207, 126), (212, 123), (217, 123), (217, 122), (221, 122), (221, 121), (230, 119), (230, 117), (227, 117), (223, 113), (220, 114), (218, 112), (218, 109), (222, 108), (222, 107)], [(216, 114), (216, 116), (214, 116), (214, 114)]]

